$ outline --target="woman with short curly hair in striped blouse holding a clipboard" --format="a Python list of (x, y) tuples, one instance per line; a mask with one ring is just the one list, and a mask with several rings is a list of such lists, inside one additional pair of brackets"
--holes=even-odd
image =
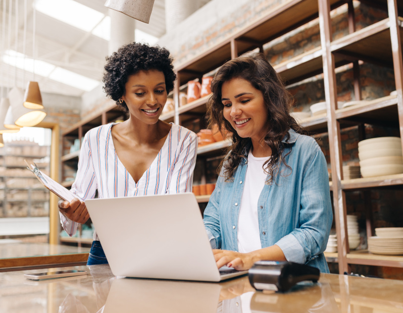
[[(130, 43), (106, 58), (104, 91), (129, 112), (129, 119), (84, 136), (71, 187), (79, 199), (59, 202), (61, 223), (70, 236), (88, 220), (85, 200), (97, 191), (99, 198), (114, 198), (192, 190), (197, 136), (158, 119), (175, 79), (172, 57), (164, 48)], [(103, 263), (107, 260), (95, 232), (87, 264)]]

